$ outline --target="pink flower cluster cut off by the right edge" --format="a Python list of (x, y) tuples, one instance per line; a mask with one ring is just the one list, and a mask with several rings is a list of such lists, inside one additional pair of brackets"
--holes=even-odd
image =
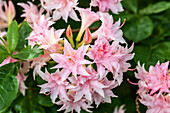
[(144, 65), (138, 64), (140, 102), (148, 107), (147, 113), (168, 113), (170, 111), (170, 77), (168, 74), (169, 62), (150, 66), (149, 72)]

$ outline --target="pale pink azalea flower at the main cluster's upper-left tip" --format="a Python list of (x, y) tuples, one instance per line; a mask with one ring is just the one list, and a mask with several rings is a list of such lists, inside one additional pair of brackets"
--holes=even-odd
[(44, 10), (41, 8), (40, 11), (38, 11), (38, 8), (33, 3), (28, 2), (28, 4), (18, 3), (18, 5), (24, 8), (25, 12), (24, 14), (21, 15), (21, 17), (25, 17), (27, 21), (30, 23), (33, 22), (37, 23)]

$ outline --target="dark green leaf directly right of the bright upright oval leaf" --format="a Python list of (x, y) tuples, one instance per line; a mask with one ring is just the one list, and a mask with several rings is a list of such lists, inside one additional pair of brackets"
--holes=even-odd
[(15, 50), (19, 51), (24, 48), (27, 44), (26, 38), (30, 35), (32, 28), (28, 25), (26, 21), (22, 22), (19, 27), (19, 41)]

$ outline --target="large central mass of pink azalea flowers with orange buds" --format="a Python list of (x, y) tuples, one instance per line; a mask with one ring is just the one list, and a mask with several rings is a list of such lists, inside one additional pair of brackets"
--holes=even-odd
[[(123, 11), (120, 1), (92, 0), (90, 5), (98, 6), (98, 12), (79, 8), (78, 0), (41, 0), (40, 10), (31, 2), (19, 3), (24, 8), (22, 17), (26, 18), (33, 29), (27, 37), (28, 45), (38, 45), (44, 50), (44, 55), (23, 62), (17, 76), (23, 95), (27, 88), (24, 74), (33, 68), (34, 79), (38, 74), (47, 81), (39, 86), (40, 93), (50, 95), (54, 104), (62, 105), (58, 111), (80, 112), (84, 109), (90, 112), (88, 108), (92, 108), (93, 102), (97, 106), (101, 102), (111, 103), (111, 97), (117, 97), (112, 89), (122, 83), (123, 72), (131, 66), (127, 61), (134, 57), (131, 53), (133, 45), (128, 49), (120, 29), (124, 23), (121, 25), (120, 20), (114, 23), (113, 17), (105, 13), (109, 9), (115, 14)], [(75, 10), (78, 10), (81, 19)], [(51, 27), (61, 17), (65, 22), (68, 17), (75, 21), (81, 20), (77, 37), (73, 37), (70, 26), (66, 30), (67, 38), (61, 38), (65, 29), (55, 30)], [(91, 33), (89, 27), (96, 21), (101, 21), (102, 24)], [(56, 69), (56, 72), (50, 73), (47, 69), (43, 72), (41, 67), (50, 60), (56, 62), (57, 65), (51, 68)], [(113, 75), (111, 80), (107, 78), (109, 72)]]

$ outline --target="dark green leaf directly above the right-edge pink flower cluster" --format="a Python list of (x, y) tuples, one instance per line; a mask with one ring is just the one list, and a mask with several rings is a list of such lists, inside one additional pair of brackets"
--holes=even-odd
[(155, 46), (135, 46), (134, 60), (137, 63), (145, 63), (148, 68), (150, 65), (155, 65), (158, 61), (165, 62), (170, 60), (170, 42), (159, 43)]

